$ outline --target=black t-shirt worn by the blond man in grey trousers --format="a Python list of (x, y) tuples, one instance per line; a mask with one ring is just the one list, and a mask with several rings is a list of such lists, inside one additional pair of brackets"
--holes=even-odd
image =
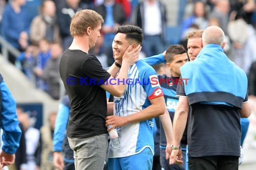
[(106, 91), (100, 85), (110, 74), (99, 60), (81, 50), (67, 49), (60, 61), (60, 75), (71, 100), (67, 136), (87, 138), (107, 133)]

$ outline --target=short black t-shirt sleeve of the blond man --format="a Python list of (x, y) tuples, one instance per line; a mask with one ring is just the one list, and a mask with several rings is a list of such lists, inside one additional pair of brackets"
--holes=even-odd
[(83, 72), (86, 80), (95, 85), (103, 85), (110, 78), (110, 73), (102, 68), (100, 61), (93, 55), (88, 55), (88, 59), (84, 62)]

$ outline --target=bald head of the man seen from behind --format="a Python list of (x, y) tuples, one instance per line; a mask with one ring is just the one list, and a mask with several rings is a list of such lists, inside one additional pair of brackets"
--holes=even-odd
[(224, 43), (225, 34), (218, 26), (209, 26), (203, 31), (202, 41), (203, 46), (207, 44), (218, 44), (220, 46)]

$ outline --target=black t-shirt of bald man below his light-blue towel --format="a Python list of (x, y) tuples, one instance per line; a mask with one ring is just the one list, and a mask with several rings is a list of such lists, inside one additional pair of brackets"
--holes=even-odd
[[(177, 95), (186, 96), (184, 84)], [(247, 101), (247, 98), (244, 102)], [(237, 107), (195, 103), (188, 118), (189, 157), (240, 156), (241, 125)]]

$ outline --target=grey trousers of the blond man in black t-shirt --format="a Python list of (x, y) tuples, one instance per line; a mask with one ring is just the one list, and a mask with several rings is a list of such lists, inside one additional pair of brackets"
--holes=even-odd
[(74, 151), (75, 170), (103, 170), (107, 152), (107, 134), (84, 139), (69, 138)]

